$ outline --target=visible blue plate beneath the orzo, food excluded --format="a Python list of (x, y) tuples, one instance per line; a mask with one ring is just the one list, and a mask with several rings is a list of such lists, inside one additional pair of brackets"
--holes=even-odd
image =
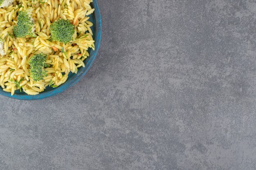
[(93, 32), (93, 39), (95, 40), (95, 50), (89, 49), (88, 52), (90, 54), (90, 57), (87, 57), (85, 62), (85, 67), (80, 67), (77, 74), (70, 73), (67, 81), (62, 84), (61, 86), (58, 86), (57, 88), (47, 87), (45, 91), (39, 93), (38, 95), (27, 95), (25, 92), (20, 92), (19, 90), (15, 91), (15, 94), (11, 96), (11, 93), (5, 92), (0, 87), (0, 95), (4, 95), (7, 97), (11, 97), (14, 99), (20, 99), (20, 100), (38, 100), (38, 99), (44, 99), (46, 97), (57, 95), (58, 93), (61, 93), (67, 88), (70, 88), (71, 86), (74, 86), (79, 80), (88, 72), (89, 68), (92, 66), (92, 63), (94, 62), (96, 55), (99, 51), (99, 46), (101, 43), (101, 15), (99, 11), (99, 7), (97, 4), (97, 0), (93, 0), (92, 7), (95, 9), (94, 13), (90, 15), (90, 22), (93, 23), (94, 26), (91, 27)]

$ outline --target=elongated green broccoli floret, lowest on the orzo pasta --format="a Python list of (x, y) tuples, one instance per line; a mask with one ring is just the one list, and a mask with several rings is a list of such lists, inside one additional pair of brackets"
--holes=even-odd
[(35, 82), (42, 80), (47, 73), (44, 69), (46, 62), (46, 55), (43, 53), (33, 55), (29, 59), (29, 73), (30, 77), (34, 79)]

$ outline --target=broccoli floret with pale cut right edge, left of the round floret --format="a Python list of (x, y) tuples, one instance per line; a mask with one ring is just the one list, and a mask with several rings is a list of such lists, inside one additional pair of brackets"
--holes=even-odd
[(31, 11), (29, 9), (27, 11), (18, 11), (17, 18), (17, 26), (13, 27), (15, 37), (24, 38), (27, 35), (29, 35), (29, 37), (35, 37), (35, 24), (31, 18)]

